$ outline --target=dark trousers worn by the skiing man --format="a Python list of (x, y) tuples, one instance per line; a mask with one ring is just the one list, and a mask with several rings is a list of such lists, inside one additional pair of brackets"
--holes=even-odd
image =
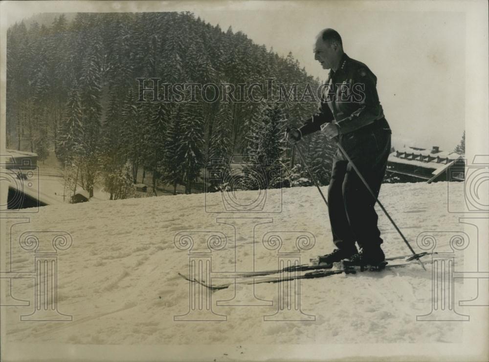
[[(390, 129), (358, 130), (339, 139), (356, 168), (378, 196), (391, 149)], [(382, 243), (377, 227), (375, 199), (338, 149), (328, 189), (333, 242), (337, 248), (378, 246)]]

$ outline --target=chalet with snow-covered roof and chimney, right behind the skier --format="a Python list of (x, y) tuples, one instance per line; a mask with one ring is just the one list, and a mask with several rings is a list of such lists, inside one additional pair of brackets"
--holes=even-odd
[(404, 147), (389, 155), (386, 173), (394, 182), (463, 181), (464, 167), (463, 154)]

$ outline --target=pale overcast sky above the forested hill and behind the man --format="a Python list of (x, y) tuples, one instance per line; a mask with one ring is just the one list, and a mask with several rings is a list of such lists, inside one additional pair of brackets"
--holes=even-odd
[[(122, 10), (110, 2), (88, 3), (82, 9), (93, 11), (97, 4), (112, 4), (112, 11)], [(142, 1), (125, 4), (137, 6), (127, 11), (145, 10)], [(334, 1), (162, 4), (161, 9), (166, 11), (193, 11), (211, 24), (220, 24), (223, 30), (231, 25), (234, 32), (241, 30), (255, 43), (273, 46), (281, 55), (291, 51), (310, 74), (321, 80), (327, 71), (314, 61), (312, 43), (319, 30), (332, 27), (341, 34), (345, 52), (377, 75), (380, 102), (393, 129), (395, 147), (439, 146), (453, 150), (460, 141), (466, 121), (464, 13), (372, 10), (366, 2), (354, 2), (354, 6), (338, 10)], [(36, 12), (36, 3), (27, 11), (11, 13), (9, 22), (31, 16)], [(77, 7), (70, 6), (68, 11), (77, 11)]]

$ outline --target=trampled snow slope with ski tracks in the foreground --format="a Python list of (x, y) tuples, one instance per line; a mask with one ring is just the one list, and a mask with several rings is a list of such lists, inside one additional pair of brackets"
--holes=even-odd
[[(323, 187), (326, 192), (327, 187)], [(462, 207), (463, 184), (450, 185), (452, 198)], [(280, 190), (271, 190), (278, 193)], [(386, 184), (380, 198), (415, 250), (423, 231), (461, 230), (458, 215), (447, 212), (447, 185), (437, 183)], [(253, 192), (239, 192), (253, 200)], [(207, 195), (216, 206), (221, 194)], [(387, 256), (409, 251), (388, 219), (379, 213), (379, 227)], [(23, 216), (23, 215), (22, 215)], [(256, 299), (252, 288), (212, 293), (213, 310), (227, 315), (226, 322), (174, 322), (188, 311), (188, 282), (178, 272), (188, 270), (188, 255), (174, 245), (180, 231), (221, 231), (228, 247), (215, 252), (213, 270), (233, 271), (234, 229), (216, 217), (271, 217), (273, 223), (256, 228), (256, 269), (274, 269), (277, 259), (265, 250), (261, 237), (268, 231), (309, 231), (316, 244), (303, 262), (333, 249), (326, 207), (313, 187), (283, 190), (283, 211), (278, 214), (216, 214), (204, 211), (204, 195), (177, 195), (55, 205), (40, 208), (28, 224), (14, 226), (12, 271), (33, 270), (33, 256), (17, 240), (25, 231), (63, 230), (73, 245), (58, 257), (58, 309), (73, 315), (72, 322), (21, 322), (30, 314), (33, 279), (12, 282), (15, 298), (30, 300), (31, 307), (8, 307), (9, 341), (81, 344), (191, 344), (199, 343), (375, 343), (454, 342), (461, 338), (457, 322), (416, 322), (416, 315), (431, 310), (431, 265), (427, 272), (413, 263), (380, 273), (335, 275), (301, 280), (301, 309), (315, 315), (313, 322), (269, 322), (276, 312), (278, 284), (255, 286), (257, 298), (274, 306), (216, 306), (238, 293), (244, 301)], [(15, 221), (7, 223), (8, 230)], [(250, 228), (248, 228), (251, 230)], [(248, 229), (246, 229), (248, 231)], [(244, 230), (244, 229), (242, 229)], [(250, 256), (252, 235), (238, 235), (238, 250)], [(276, 252), (275, 252), (276, 253)], [(238, 252), (238, 255), (241, 255)], [(428, 260), (428, 259), (426, 259)], [(242, 259), (239, 259), (243, 262)], [(461, 265), (462, 259), (456, 259)], [(460, 285), (456, 286), (460, 288)]]

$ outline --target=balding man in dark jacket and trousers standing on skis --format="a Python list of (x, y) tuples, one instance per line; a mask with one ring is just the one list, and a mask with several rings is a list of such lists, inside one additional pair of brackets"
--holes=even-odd
[[(323, 69), (330, 69), (329, 78), (317, 113), (302, 127), (289, 130), (289, 142), (296, 143), (305, 135), (322, 130), (343, 147), (378, 195), (391, 149), (391, 129), (378, 100), (377, 77), (365, 64), (344, 53), (341, 37), (333, 29), (318, 34), (313, 52)], [(350, 264), (365, 266), (385, 260), (375, 202), (352, 164), (337, 149), (328, 188), (336, 248), (331, 254), (320, 256), (320, 263), (349, 259)]]

